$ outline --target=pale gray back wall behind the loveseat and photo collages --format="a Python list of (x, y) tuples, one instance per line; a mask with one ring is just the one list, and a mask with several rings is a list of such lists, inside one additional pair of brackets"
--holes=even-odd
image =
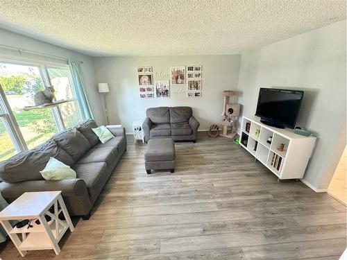
[[(194, 56), (155, 56), (155, 57), (115, 57), (95, 58), (96, 77), (99, 82), (110, 84), (108, 95), (111, 123), (121, 123), (127, 132), (132, 132), (135, 120), (143, 121), (148, 107), (191, 106), (193, 114), (206, 130), (212, 123), (221, 121), (223, 109), (222, 91), (237, 89), (240, 55), (194, 55)], [(153, 67), (154, 80), (169, 80), (170, 67), (178, 65), (202, 65), (202, 96), (187, 98), (185, 93), (173, 94), (170, 98), (139, 98), (137, 67)], [(155, 72), (167, 76), (155, 77)]]

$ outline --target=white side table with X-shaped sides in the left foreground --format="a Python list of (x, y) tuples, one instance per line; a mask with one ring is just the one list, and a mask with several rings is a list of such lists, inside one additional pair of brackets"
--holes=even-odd
[[(49, 209), (53, 207), (53, 213)], [(62, 212), (65, 220), (58, 218)], [(46, 221), (45, 215), (51, 220)], [(10, 225), (9, 220), (32, 220), (33, 227), (28, 225), (17, 228)], [(40, 220), (37, 225), (35, 220)], [(74, 231), (74, 225), (62, 200), (61, 191), (26, 192), (8, 207), (0, 212), (0, 223), (10, 236), (19, 253), (24, 257), (28, 250), (53, 249), (59, 254), (58, 242), (69, 228)], [(19, 236), (22, 234), (22, 238)]]

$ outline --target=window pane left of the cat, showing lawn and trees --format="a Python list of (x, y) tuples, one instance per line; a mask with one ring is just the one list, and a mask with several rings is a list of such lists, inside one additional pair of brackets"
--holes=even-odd
[(44, 89), (40, 68), (0, 63), (0, 85), (29, 149), (58, 132), (51, 108), (24, 111), (34, 105), (34, 95)]

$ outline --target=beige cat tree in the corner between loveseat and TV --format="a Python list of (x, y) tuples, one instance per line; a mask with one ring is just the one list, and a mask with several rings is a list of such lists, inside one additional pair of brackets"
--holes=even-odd
[(234, 121), (239, 116), (240, 104), (229, 103), (230, 97), (237, 96), (237, 92), (232, 90), (223, 91), (224, 103), (223, 103), (223, 112), (221, 112), (223, 130), (219, 134), (222, 137), (233, 138), (237, 134), (234, 130)]

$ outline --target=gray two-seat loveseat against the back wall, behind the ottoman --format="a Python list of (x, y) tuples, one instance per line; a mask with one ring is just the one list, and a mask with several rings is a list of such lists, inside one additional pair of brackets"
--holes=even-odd
[(196, 141), (200, 123), (195, 119), (192, 107), (151, 107), (146, 110), (142, 124), (144, 140), (168, 138), (174, 141)]

